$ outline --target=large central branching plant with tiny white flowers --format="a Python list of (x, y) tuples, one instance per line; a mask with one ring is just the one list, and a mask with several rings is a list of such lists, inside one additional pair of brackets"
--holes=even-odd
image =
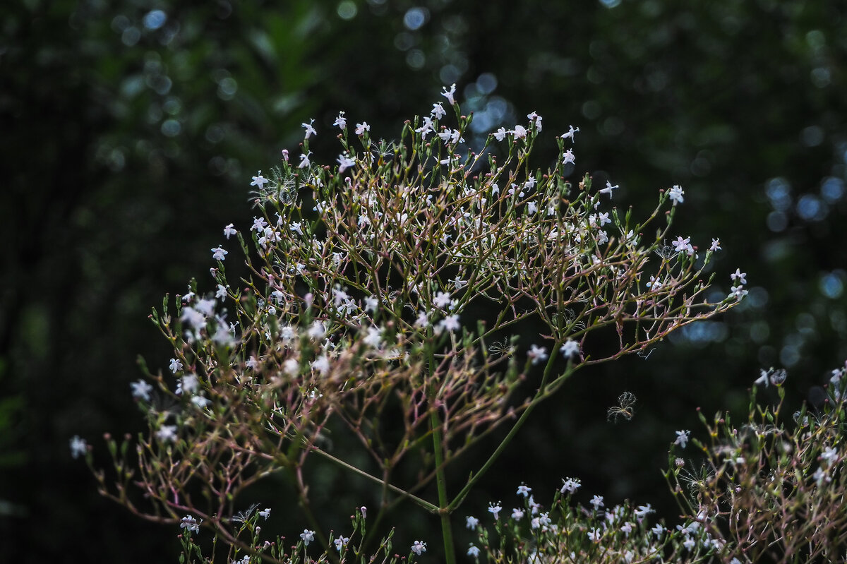
[[(128, 443), (110, 442), (118, 482), (109, 486), (98, 471), (104, 495), (180, 523), (184, 539), (211, 529), (230, 546), (230, 561), (294, 561), (281, 539), (262, 543), (260, 511), (236, 518), (235, 506), (278, 471), (291, 473), (307, 503), (303, 467), (319, 457), (379, 484), (380, 513), (407, 500), (439, 515), (453, 562), (451, 514), (540, 401), (580, 368), (645, 351), (744, 296), (738, 271), (725, 299), (703, 297), (711, 278), (700, 277), (719, 241), (703, 257), (690, 238), (664, 244), (684, 199), (679, 186), (660, 191), (643, 221), (604, 212), (617, 185), (595, 190), (587, 174), (567, 180), (578, 129), (556, 138), (556, 163), (535, 170), (538, 114), (468, 150), (472, 116), (454, 92), (444, 96), (455, 121), (436, 103), (395, 142), (372, 140), (364, 122), (351, 134), (340, 113), (333, 166), (312, 162), (318, 130), (304, 123), (299, 162), (284, 151), (270, 178), (253, 177), (258, 213), (249, 229), (227, 225), (228, 242), (212, 249), (216, 288), (204, 293), (192, 281), (152, 313), (174, 348), (172, 374), (145, 368), (147, 379), (132, 384), (149, 434), (136, 445), (136, 468)], [(240, 285), (226, 274), (231, 241), (250, 273)], [(537, 342), (510, 336), (526, 320), (541, 328)], [(600, 346), (609, 340), (611, 351)], [(513, 397), (527, 379), (534, 393)], [(448, 492), (451, 462), (500, 425), (509, 427), (505, 439)], [(333, 429), (355, 437), (377, 471), (335, 456)], [(396, 469), (412, 454), (420, 470), (407, 484)], [(437, 499), (425, 499), (433, 483)], [(354, 518), (357, 533), (364, 513)], [(313, 540), (337, 544), (315, 535), (304, 531), (303, 550)], [(410, 557), (426, 550), (408, 542)], [(380, 547), (388, 557), (390, 539)]]

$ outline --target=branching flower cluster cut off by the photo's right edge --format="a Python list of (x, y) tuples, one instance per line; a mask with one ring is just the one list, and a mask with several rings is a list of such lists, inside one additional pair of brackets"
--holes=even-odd
[(804, 407), (787, 423), (786, 373), (773, 368), (756, 383), (777, 387), (777, 405), (759, 405), (754, 386), (742, 424), (728, 413), (711, 422), (700, 416), (709, 438), (697, 442), (705, 462), (699, 470), (672, 462), (666, 475), (683, 511), (724, 546), (721, 561), (844, 561), (844, 373), (833, 370), (821, 409)]

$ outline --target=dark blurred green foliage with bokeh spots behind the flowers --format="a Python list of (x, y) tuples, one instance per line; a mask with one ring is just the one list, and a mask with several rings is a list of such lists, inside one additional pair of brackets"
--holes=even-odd
[[(521, 481), (549, 499), (575, 476), (586, 500), (673, 519), (659, 470), (674, 430), (700, 431), (695, 407), (743, 411), (774, 366), (793, 411), (847, 357), (841, 3), (23, 0), (0, 16), (0, 560), (174, 558), (178, 529), (100, 499), (69, 438), (106, 462), (102, 433), (141, 430), (136, 355), (169, 359), (150, 307), (192, 276), (212, 287), (209, 249), (225, 224), (249, 224), (251, 175), (299, 154), (303, 121), (316, 118), (313, 160), (332, 162), (339, 110), (391, 139), (453, 82), (472, 147), (536, 111), (537, 164), (578, 126), (574, 178), (621, 185), (616, 205), (644, 213), (683, 185), (678, 234), (722, 242), (717, 294), (735, 268), (750, 283), (730, 315), (579, 373), (460, 516), (510, 507)], [(624, 390), (634, 419), (607, 423)], [(374, 502), (355, 480), (313, 476), (326, 528)], [(291, 536), (303, 521), (285, 488), (256, 495)], [(396, 517), (399, 545), (436, 538), (415, 513)]]

